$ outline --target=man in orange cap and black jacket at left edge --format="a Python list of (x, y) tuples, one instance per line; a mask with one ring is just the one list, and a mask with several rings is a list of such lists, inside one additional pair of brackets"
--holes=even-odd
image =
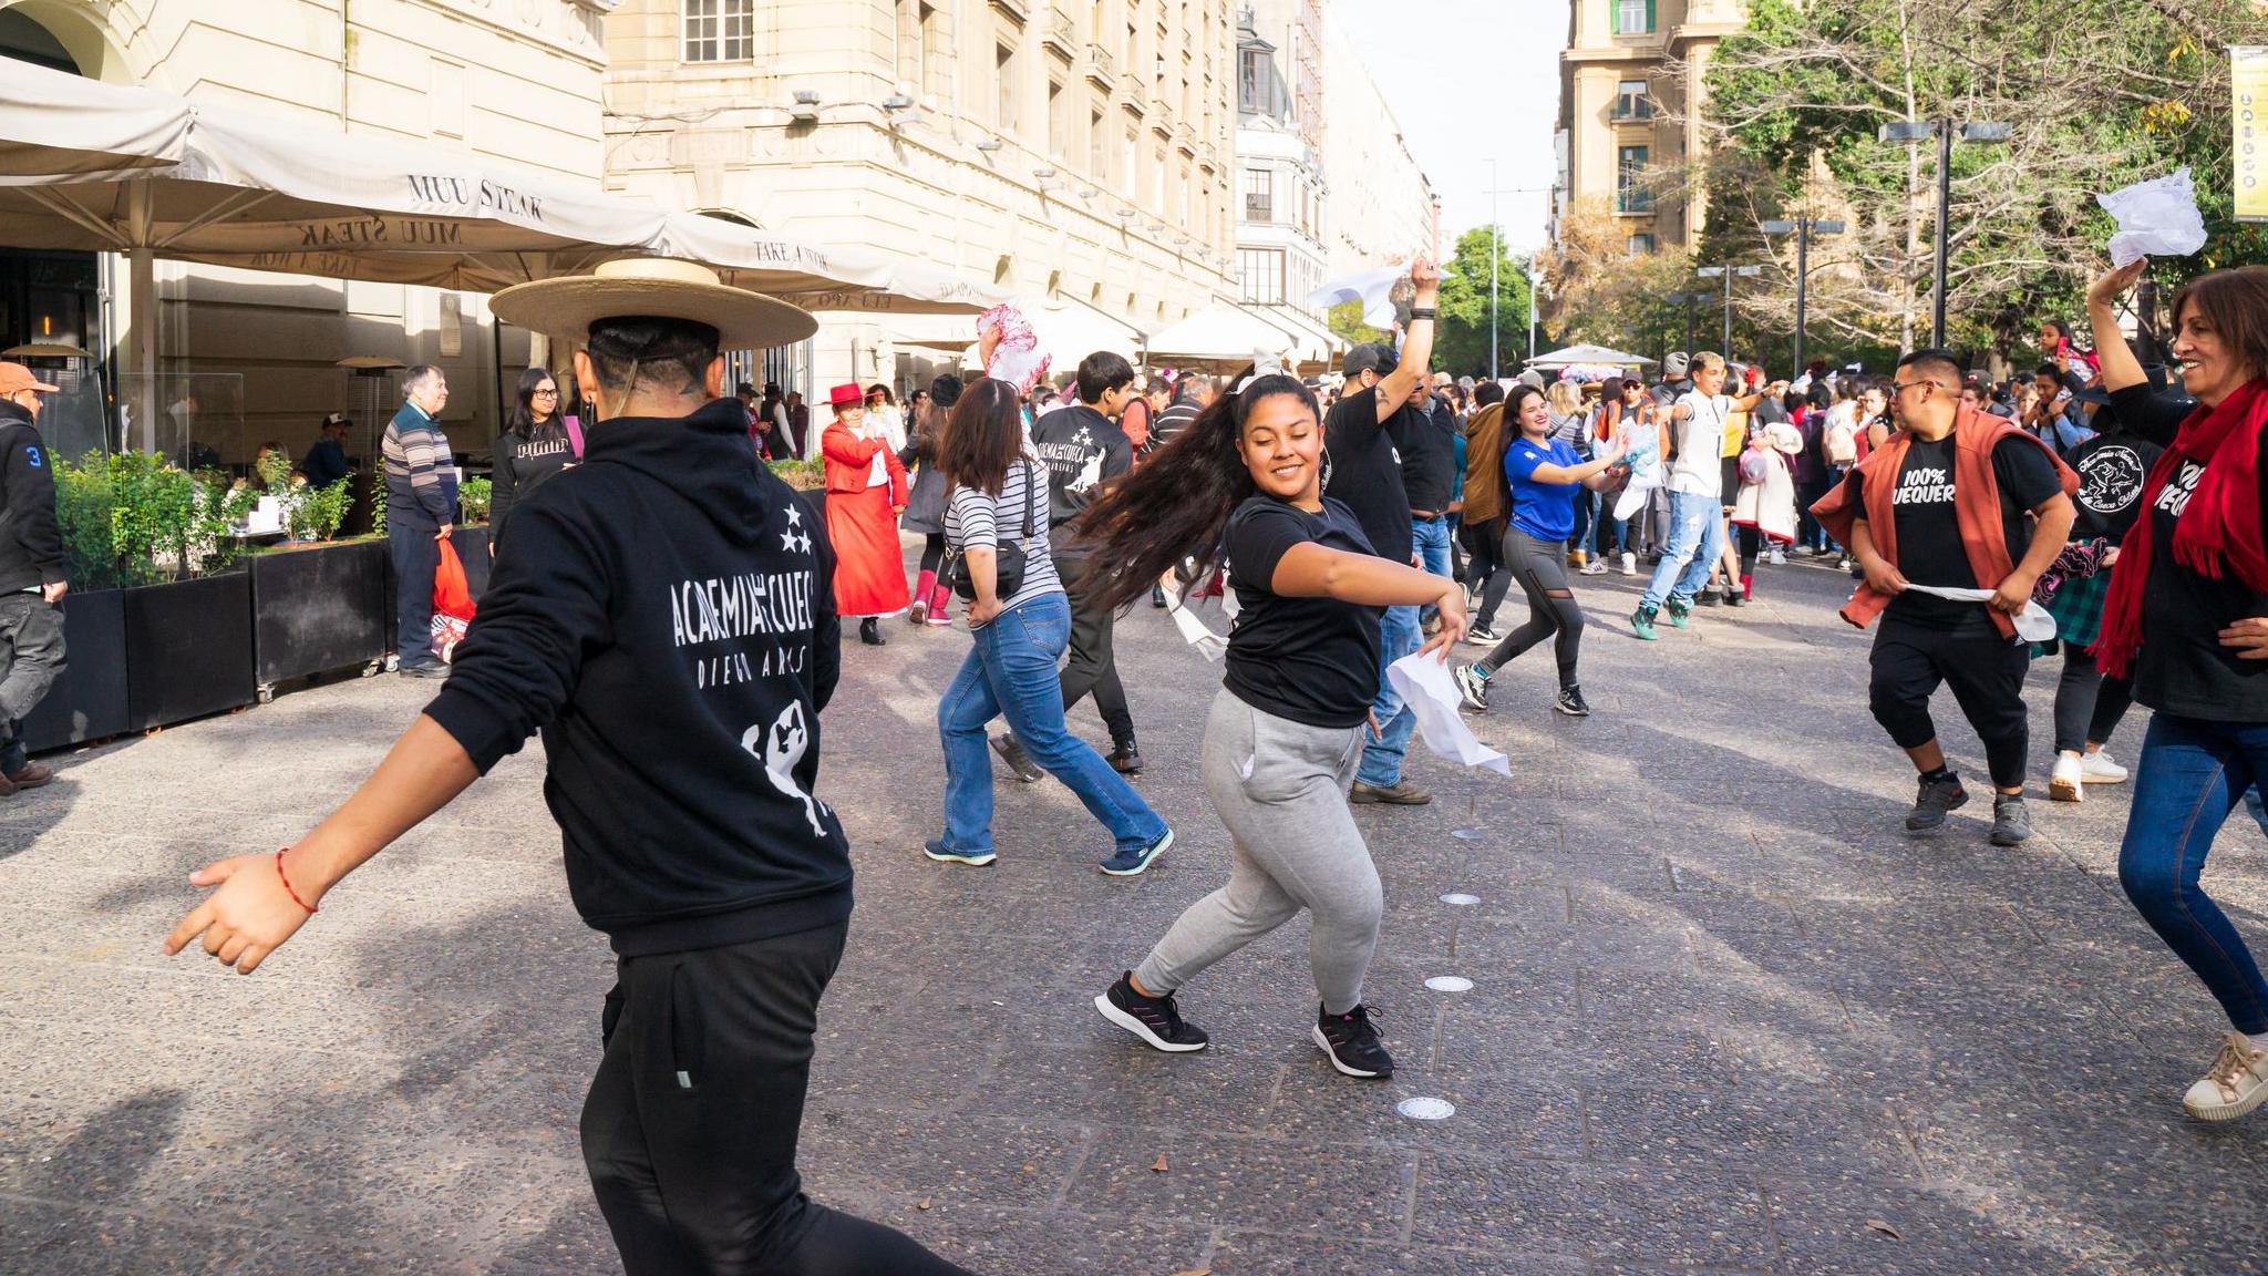
[(39, 436), (39, 395), (54, 386), (0, 363), (0, 797), (39, 788), (54, 770), (25, 758), (23, 720), (64, 672), (64, 534), (54, 522), (54, 456)]

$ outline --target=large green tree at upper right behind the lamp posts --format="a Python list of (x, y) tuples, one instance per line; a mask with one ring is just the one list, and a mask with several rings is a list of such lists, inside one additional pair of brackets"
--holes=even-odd
[[(1823, 350), (1928, 338), (1935, 145), (1880, 141), (1887, 123), (1994, 120), (2009, 145), (1955, 145), (1948, 338), (2014, 350), (2071, 316), (2105, 266), (2093, 195), (2189, 166), (2211, 241), (2157, 266), (2164, 284), (2268, 247), (2232, 218), (2225, 45), (2268, 39), (2252, 5), (2130, 0), (1753, 0), (1708, 68), (1699, 173), (1703, 261), (1771, 261), (1742, 304), (1762, 329), (1794, 311), (1794, 245), (1762, 220), (1839, 216), (1814, 243), (1808, 327)], [(1769, 286), (1776, 284), (1776, 286)]]

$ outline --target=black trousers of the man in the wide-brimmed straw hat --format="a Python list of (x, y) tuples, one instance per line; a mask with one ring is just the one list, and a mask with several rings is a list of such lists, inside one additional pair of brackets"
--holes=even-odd
[(968, 1276), (803, 1194), (812, 1031), (848, 931), (617, 963), (583, 1162), (628, 1276)]

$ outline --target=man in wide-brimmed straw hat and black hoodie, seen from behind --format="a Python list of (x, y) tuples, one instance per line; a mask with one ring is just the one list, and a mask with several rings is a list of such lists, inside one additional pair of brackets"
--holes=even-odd
[(796, 1176), (850, 922), (848, 845), (816, 797), (839, 624), (826, 538), (719, 397), (717, 350), (814, 322), (683, 261), (615, 261), (492, 307), (590, 334), (583, 465), (513, 511), (449, 681), (370, 781), (295, 847), (200, 870), (220, 890), (166, 949), (202, 933), (249, 974), (347, 872), (542, 731), (567, 888), (617, 954), (583, 1160), (624, 1267), (962, 1274), (814, 1206)]

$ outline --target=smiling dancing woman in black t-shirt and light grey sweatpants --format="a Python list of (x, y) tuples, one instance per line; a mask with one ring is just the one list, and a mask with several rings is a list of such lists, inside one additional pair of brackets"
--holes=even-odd
[(1184, 559), (1202, 570), (1227, 559), (1241, 604), (1200, 754), (1204, 792), (1236, 845), (1229, 881), (1182, 913), (1095, 1010), (1154, 1049), (1204, 1049), (1175, 992), (1306, 908), (1322, 994), (1315, 1044), (1347, 1076), (1393, 1076), (1363, 1008), (1383, 897), (1347, 788), (1379, 690), (1379, 611), (1438, 606), (1424, 652), (1447, 656), (1465, 633), (1465, 590), (1372, 556), (1322, 479), (1315, 395), (1293, 377), (1247, 375), (1086, 511), (1089, 572), (1109, 581), (1100, 606), (1132, 604)]

